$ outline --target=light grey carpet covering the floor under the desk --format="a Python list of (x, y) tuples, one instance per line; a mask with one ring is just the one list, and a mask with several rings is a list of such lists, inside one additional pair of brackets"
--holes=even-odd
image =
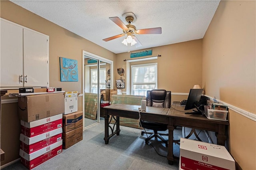
[[(104, 142), (104, 122), (87, 128), (83, 140), (64, 149), (61, 154), (33, 168), (33, 170), (177, 170), (178, 162), (168, 164), (151, 145), (145, 144), (140, 129), (120, 127), (120, 135), (113, 136), (109, 144)], [(174, 138), (182, 137), (182, 130), (174, 130)], [(164, 136), (168, 138), (168, 136)], [(167, 156), (168, 148), (153, 138), (151, 144), (161, 155)], [(174, 156), (179, 156), (179, 146), (174, 144)], [(26, 170), (20, 161), (3, 170)]]

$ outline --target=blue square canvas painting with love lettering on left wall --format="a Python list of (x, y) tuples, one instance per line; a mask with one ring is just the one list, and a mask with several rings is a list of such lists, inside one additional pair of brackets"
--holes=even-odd
[(60, 81), (78, 81), (77, 60), (60, 57)]

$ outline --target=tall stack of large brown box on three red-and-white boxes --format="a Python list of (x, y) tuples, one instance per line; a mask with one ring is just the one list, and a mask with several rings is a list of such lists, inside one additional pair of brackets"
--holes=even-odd
[(64, 94), (18, 98), (21, 162), (32, 169), (62, 152)]

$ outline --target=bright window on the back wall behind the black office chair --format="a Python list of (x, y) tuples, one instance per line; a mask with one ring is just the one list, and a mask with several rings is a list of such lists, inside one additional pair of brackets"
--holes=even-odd
[(146, 96), (148, 90), (157, 89), (157, 63), (132, 65), (132, 95)]

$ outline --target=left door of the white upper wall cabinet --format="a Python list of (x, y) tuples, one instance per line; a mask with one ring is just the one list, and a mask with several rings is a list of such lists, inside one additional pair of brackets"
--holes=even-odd
[(0, 23), (1, 31), (1, 87), (22, 87), (23, 77), (23, 29), (4, 22)]

